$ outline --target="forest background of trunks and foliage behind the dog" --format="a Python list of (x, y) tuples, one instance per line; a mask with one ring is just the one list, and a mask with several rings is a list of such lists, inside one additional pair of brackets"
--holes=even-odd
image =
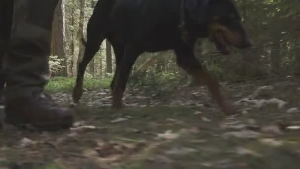
[[(215, 46), (199, 39), (196, 55), (219, 80), (243, 82), (300, 75), (300, 1), (235, 0), (253, 48), (235, 50), (229, 56), (216, 54)], [(49, 75), (52, 80), (70, 80), (73, 85), (77, 63), (84, 46), (86, 23), (96, 0), (60, 0), (53, 23)], [(85, 83), (110, 83), (115, 69), (113, 49), (104, 41), (88, 65)], [(130, 83), (187, 83), (189, 77), (176, 65), (173, 51), (144, 53), (138, 58)], [(187, 81), (188, 80), (188, 81)]]

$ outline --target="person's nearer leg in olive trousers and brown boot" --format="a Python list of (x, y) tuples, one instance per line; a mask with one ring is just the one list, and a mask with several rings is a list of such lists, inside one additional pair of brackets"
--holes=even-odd
[(14, 0), (5, 68), (5, 122), (41, 129), (71, 127), (71, 109), (43, 94), (58, 0)]

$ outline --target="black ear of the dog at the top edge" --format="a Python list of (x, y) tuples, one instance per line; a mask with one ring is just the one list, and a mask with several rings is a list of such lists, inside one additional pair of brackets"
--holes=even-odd
[(189, 15), (199, 23), (205, 20), (206, 8), (210, 0), (186, 0)]

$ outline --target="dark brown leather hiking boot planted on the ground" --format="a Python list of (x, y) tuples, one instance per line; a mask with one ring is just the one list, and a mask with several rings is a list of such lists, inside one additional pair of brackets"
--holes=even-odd
[(30, 124), (41, 130), (57, 130), (72, 127), (73, 114), (70, 108), (60, 107), (42, 93), (9, 100), (4, 121), (13, 126)]

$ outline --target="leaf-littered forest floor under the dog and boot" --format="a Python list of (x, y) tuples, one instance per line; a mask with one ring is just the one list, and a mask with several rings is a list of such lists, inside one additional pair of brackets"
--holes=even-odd
[(204, 87), (128, 88), (119, 111), (110, 109), (109, 89), (85, 91), (70, 130), (5, 126), (0, 169), (299, 169), (300, 83), (222, 90), (242, 114), (224, 116)]

